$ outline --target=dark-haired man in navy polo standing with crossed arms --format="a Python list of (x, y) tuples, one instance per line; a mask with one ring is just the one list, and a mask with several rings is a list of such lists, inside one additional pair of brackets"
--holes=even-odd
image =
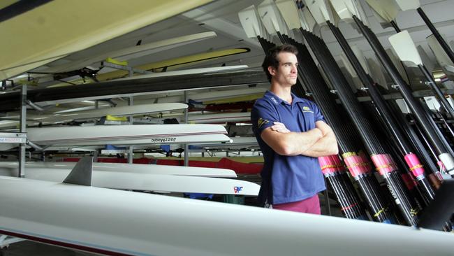
[(262, 64), (271, 87), (251, 111), (265, 159), (258, 200), (265, 207), (320, 214), (317, 193), (325, 190), (325, 182), (317, 157), (337, 155), (337, 141), (316, 104), (291, 93), (297, 54), (293, 45), (280, 45)]

